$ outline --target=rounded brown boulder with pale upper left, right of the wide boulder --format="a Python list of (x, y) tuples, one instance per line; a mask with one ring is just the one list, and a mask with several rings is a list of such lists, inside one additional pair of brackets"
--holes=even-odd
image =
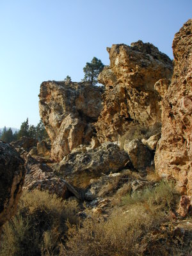
[(140, 140), (125, 141), (124, 150), (128, 153), (136, 170), (145, 170), (147, 166), (150, 166), (152, 156), (148, 148)]

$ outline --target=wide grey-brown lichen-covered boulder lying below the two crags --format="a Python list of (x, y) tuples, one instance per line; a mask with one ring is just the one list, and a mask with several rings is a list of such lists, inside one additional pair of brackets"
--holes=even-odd
[(90, 179), (100, 177), (102, 173), (118, 172), (129, 164), (129, 156), (125, 151), (106, 142), (87, 152), (75, 152), (64, 157), (58, 166), (58, 172), (63, 173), (63, 177), (75, 188), (84, 189)]

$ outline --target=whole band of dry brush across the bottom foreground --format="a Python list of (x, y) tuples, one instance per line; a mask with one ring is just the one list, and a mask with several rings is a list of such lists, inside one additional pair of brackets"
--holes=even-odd
[(47, 191), (24, 193), (3, 227), (0, 255), (186, 255), (192, 248), (174, 233), (170, 214), (178, 200), (173, 184), (162, 181), (122, 196), (107, 219), (87, 209), (89, 218), (79, 222), (76, 202)]

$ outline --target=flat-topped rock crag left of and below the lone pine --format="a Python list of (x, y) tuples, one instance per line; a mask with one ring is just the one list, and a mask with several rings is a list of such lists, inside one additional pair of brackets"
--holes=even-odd
[(73, 148), (88, 144), (100, 114), (102, 89), (89, 83), (48, 81), (40, 86), (40, 117), (52, 143), (51, 156), (61, 161)]

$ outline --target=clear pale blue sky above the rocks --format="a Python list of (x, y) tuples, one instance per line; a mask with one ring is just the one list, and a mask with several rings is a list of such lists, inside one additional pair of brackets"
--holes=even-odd
[(192, 0), (0, 0), (0, 127), (36, 125), (42, 81), (83, 79), (106, 47), (150, 42), (172, 55)]

